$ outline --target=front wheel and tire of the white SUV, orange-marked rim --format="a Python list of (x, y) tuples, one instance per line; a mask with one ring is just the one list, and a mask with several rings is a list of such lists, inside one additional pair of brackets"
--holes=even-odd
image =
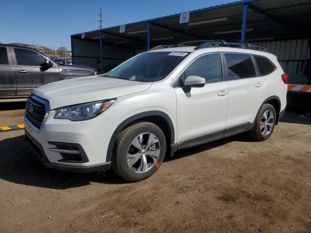
[(166, 140), (161, 129), (151, 122), (135, 122), (118, 134), (112, 168), (124, 180), (142, 181), (161, 166), (165, 152)]

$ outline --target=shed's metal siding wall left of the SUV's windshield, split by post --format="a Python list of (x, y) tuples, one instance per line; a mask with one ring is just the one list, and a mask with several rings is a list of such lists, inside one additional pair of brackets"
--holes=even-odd
[[(94, 67), (97, 70), (100, 70), (100, 64), (98, 64), (98, 61), (100, 60), (100, 49), (98, 42), (73, 38), (72, 44), (72, 55), (74, 57), (75, 65)], [(103, 47), (104, 66), (110, 64), (121, 64), (122, 62), (135, 55), (135, 50), (132, 49), (105, 44)]]

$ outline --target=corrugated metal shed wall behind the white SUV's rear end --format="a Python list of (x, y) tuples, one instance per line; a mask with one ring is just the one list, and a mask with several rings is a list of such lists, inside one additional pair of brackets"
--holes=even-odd
[(261, 41), (251, 44), (267, 48), (275, 54), (284, 72), (290, 77), (289, 83), (307, 84), (303, 73), (310, 58), (308, 39)]

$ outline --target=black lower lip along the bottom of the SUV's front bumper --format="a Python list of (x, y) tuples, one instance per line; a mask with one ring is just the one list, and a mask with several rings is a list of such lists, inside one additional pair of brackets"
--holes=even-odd
[(33, 138), (26, 130), (25, 130), (25, 141), (30, 147), (30, 149), (33, 151), (33, 153), (37, 156), (37, 158), (46, 167), (59, 169), (59, 170), (65, 170), (65, 171), (74, 171), (74, 172), (97, 172), (97, 171), (109, 170), (111, 168), (111, 162), (105, 162), (102, 164), (89, 165), (89, 166), (71, 166), (71, 165), (51, 163), (48, 160), (41, 144), (38, 143), (35, 140), (35, 138)]

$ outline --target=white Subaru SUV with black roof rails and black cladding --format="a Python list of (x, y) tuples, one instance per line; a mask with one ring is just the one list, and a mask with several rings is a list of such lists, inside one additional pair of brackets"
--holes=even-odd
[(269, 138), (285, 111), (287, 79), (276, 56), (247, 43), (159, 46), (104, 75), (35, 89), (26, 141), (47, 167), (112, 166), (141, 181), (176, 150), (245, 131)]

